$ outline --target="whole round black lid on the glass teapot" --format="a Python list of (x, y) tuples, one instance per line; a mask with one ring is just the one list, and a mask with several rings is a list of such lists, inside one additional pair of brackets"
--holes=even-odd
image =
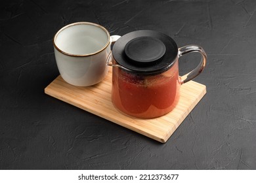
[(113, 47), (116, 62), (135, 73), (162, 73), (177, 58), (177, 44), (158, 31), (140, 30), (119, 38)]

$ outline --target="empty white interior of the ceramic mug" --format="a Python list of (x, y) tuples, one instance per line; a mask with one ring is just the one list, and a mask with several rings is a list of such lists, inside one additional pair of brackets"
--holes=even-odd
[(96, 54), (108, 46), (109, 42), (108, 31), (89, 22), (66, 25), (54, 37), (55, 47), (60, 52), (74, 56)]

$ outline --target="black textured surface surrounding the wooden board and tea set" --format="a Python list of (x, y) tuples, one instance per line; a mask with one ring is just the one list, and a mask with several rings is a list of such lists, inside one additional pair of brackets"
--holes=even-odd
[[(254, 0), (1, 0), (0, 169), (256, 169), (255, 10)], [(165, 144), (44, 93), (59, 75), (54, 33), (79, 21), (205, 49), (194, 80), (207, 94)], [(181, 75), (197, 59), (182, 57)]]

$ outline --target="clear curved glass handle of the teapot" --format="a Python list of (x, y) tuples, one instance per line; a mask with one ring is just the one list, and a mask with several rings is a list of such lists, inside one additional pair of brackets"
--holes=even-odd
[(202, 71), (206, 65), (207, 55), (205, 54), (205, 51), (203, 50), (203, 48), (198, 45), (192, 44), (192, 45), (183, 46), (183, 47), (179, 48), (179, 53), (178, 53), (179, 58), (181, 56), (184, 56), (184, 54), (188, 54), (190, 52), (199, 52), (202, 55), (202, 59), (195, 69), (190, 71), (190, 73), (188, 73), (184, 76), (181, 76), (181, 84), (184, 84), (184, 83), (192, 80), (196, 76), (200, 75), (200, 73), (202, 73)]

